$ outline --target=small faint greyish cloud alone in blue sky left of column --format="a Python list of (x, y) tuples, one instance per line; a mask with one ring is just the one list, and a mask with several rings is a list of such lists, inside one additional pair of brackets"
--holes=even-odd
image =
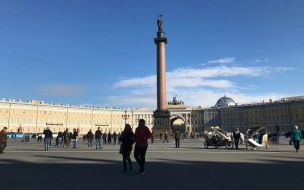
[(48, 84), (40, 87), (39, 90), (51, 96), (74, 96), (82, 94), (84, 88), (75, 84)]

